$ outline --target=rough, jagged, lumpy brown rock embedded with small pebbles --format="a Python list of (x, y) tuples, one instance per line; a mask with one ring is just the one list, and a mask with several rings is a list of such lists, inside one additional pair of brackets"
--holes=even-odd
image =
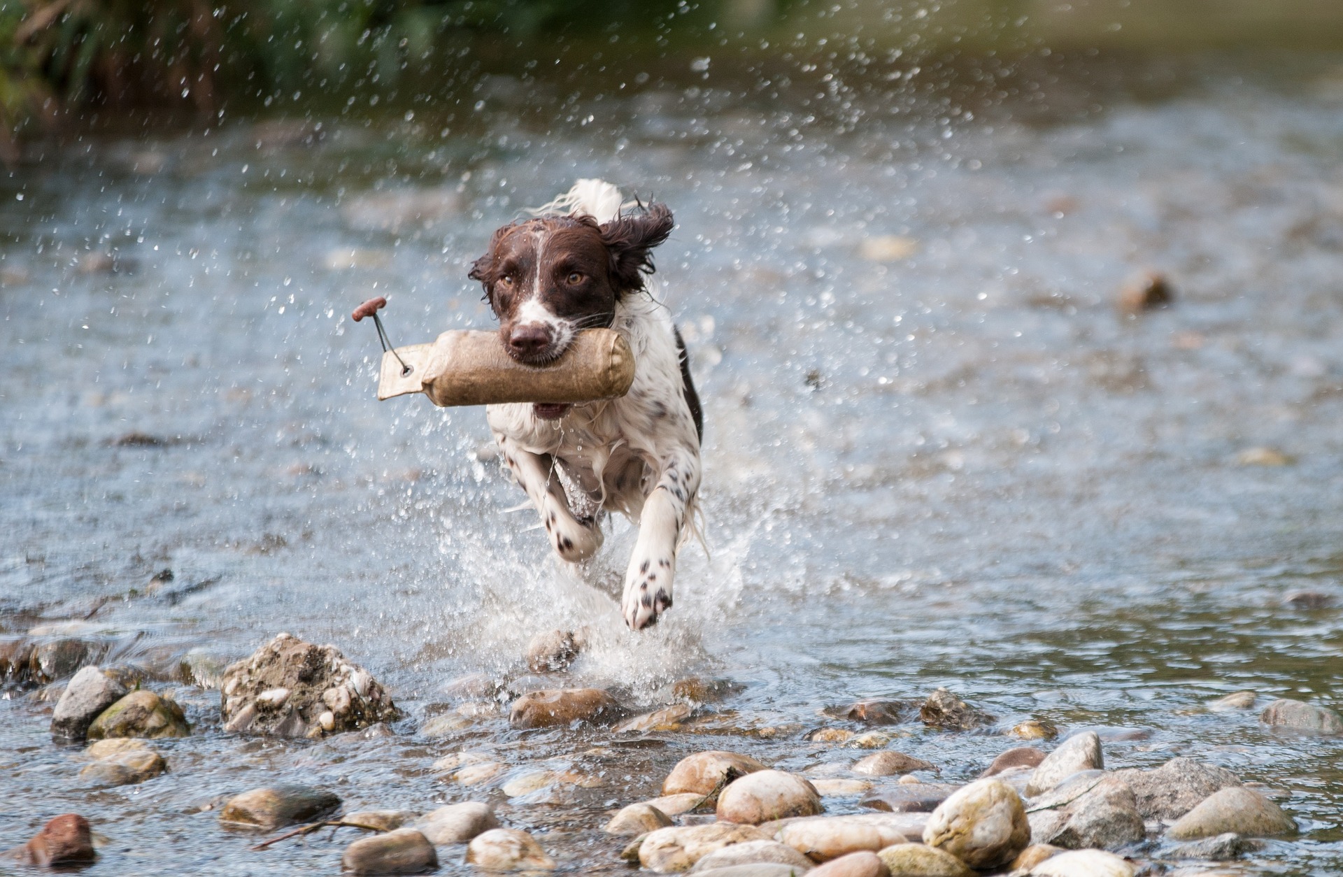
[(336, 646), (278, 634), (231, 663), (220, 685), (228, 733), (320, 737), (395, 721), (400, 712), (368, 670)]

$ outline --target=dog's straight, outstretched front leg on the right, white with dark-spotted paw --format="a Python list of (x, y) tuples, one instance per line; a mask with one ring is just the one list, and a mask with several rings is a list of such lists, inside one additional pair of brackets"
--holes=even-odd
[(677, 547), (698, 489), (700, 458), (682, 451), (666, 461), (657, 488), (643, 501), (639, 539), (624, 572), (620, 600), (620, 612), (631, 630), (657, 623), (658, 615), (672, 607)]

